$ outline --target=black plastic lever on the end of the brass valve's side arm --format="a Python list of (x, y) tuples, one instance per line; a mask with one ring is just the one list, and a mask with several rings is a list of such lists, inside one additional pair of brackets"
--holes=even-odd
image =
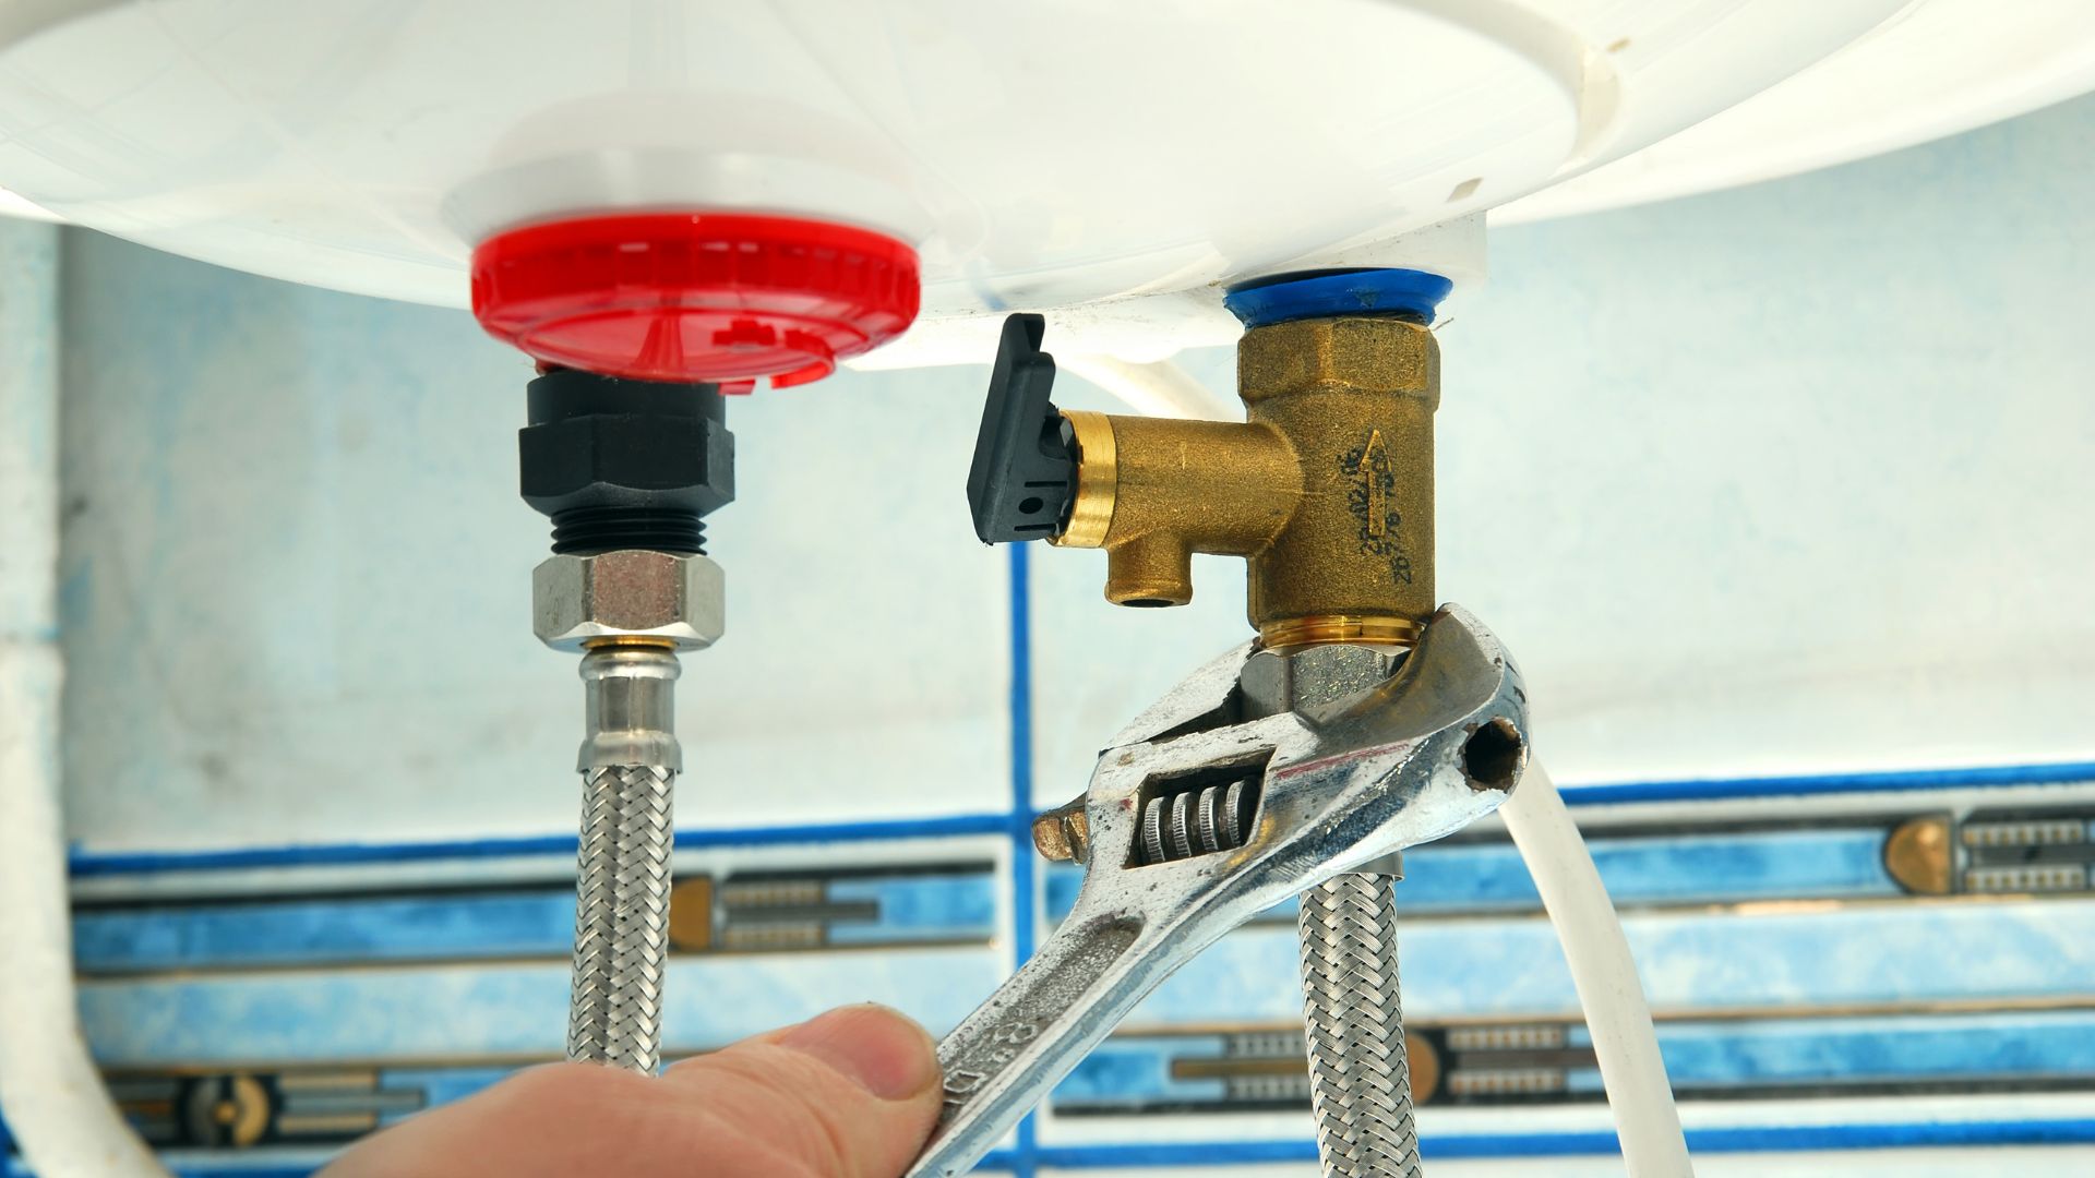
[(968, 509), (974, 535), (997, 541), (1039, 541), (1062, 530), (1077, 497), (1077, 446), (1054, 392), (1054, 356), (1041, 352), (1048, 321), (1014, 314), (1004, 321), (997, 367), (989, 373), (983, 432), (968, 467)]

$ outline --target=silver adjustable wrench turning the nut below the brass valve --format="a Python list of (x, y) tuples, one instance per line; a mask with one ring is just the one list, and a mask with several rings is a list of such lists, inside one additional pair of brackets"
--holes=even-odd
[(909, 1178), (974, 1165), (1177, 966), (1259, 912), (1498, 809), (1527, 763), (1521, 673), (1443, 606), (1397, 671), (1247, 719), (1247, 643), (1165, 694), (1058, 811), (1083, 889), (941, 1044), (945, 1107)]

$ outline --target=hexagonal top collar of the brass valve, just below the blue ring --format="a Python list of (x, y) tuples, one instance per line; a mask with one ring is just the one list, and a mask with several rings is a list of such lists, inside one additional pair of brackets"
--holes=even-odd
[(1395, 317), (1297, 319), (1244, 331), (1236, 390), (1247, 402), (1299, 392), (1429, 398), (1439, 407), (1439, 346), (1420, 323)]

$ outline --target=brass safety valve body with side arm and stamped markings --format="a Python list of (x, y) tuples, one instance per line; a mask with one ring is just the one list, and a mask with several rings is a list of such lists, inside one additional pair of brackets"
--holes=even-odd
[(1064, 413), (1077, 497), (1054, 543), (1106, 549), (1106, 599), (1182, 606), (1192, 553), (1249, 560), (1267, 648), (1399, 643), (1433, 614), (1439, 348), (1408, 319), (1255, 327), (1247, 421)]

